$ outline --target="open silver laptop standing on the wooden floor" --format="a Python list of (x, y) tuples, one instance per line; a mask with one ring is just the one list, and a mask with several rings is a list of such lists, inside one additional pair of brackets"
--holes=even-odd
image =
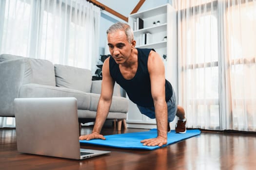
[(80, 149), (76, 98), (17, 98), (17, 149), (70, 159), (85, 159), (108, 151)]

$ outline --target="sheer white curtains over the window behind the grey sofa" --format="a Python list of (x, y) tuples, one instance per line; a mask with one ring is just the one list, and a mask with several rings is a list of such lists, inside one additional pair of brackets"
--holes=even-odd
[[(95, 72), (100, 9), (86, 0), (0, 0), (0, 54)], [(10, 124), (10, 125), (9, 125)], [(1, 126), (15, 126), (0, 118)]]

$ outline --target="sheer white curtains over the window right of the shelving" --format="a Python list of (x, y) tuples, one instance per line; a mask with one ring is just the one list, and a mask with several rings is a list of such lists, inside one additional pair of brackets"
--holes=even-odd
[(256, 131), (256, 0), (173, 0), (187, 126)]

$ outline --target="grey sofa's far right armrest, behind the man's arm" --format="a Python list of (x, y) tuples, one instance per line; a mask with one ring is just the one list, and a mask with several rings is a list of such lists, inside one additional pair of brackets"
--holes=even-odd
[[(100, 94), (101, 83), (102, 83), (102, 80), (92, 81), (91, 93)], [(121, 95), (121, 87), (117, 83), (115, 83), (115, 86), (114, 86), (113, 96), (125, 97)]]

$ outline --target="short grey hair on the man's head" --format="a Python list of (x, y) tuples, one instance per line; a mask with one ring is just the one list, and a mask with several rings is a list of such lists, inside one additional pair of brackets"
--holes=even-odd
[(127, 40), (129, 43), (132, 43), (133, 40), (133, 30), (131, 29), (130, 25), (123, 23), (123, 22), (117, 22), (109, 27), (107, 30), (107, 34), (114, 33), (117, 31), (124, 31), (126, 34)]

